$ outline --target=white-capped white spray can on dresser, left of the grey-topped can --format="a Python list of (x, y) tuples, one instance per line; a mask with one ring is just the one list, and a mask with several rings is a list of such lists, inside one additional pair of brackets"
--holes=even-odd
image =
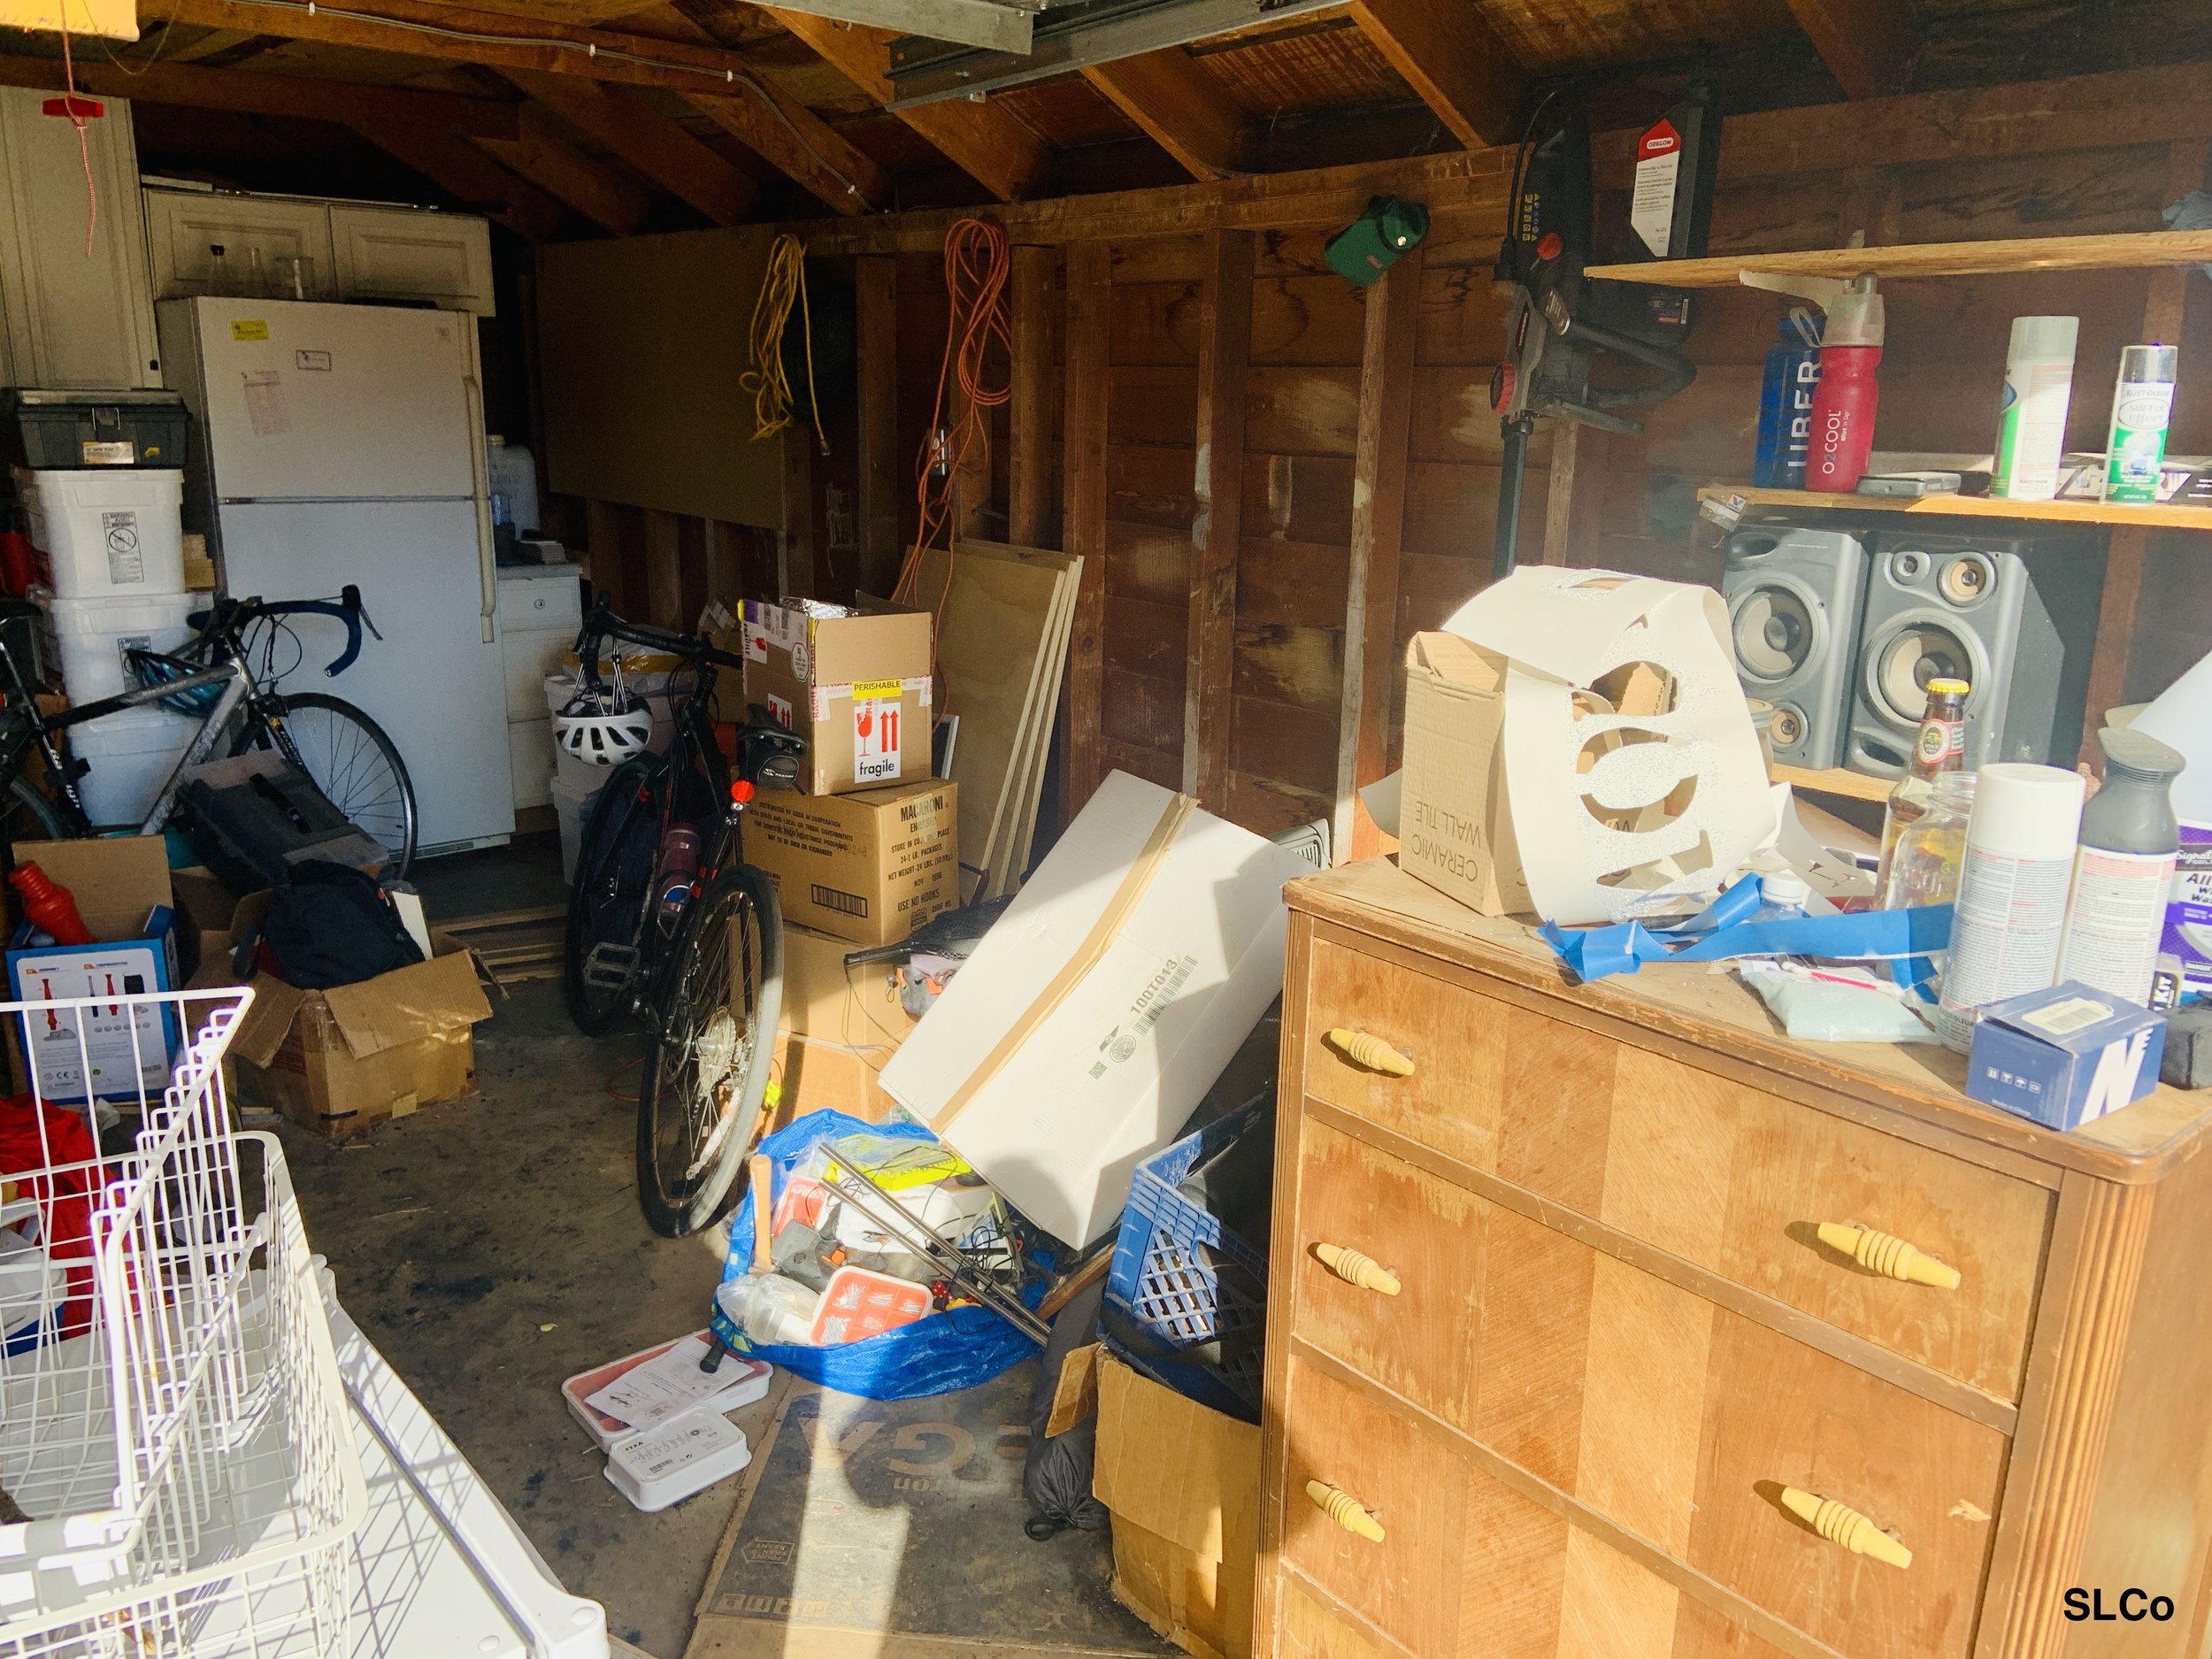
[(1982, 768), (1936, 1009), (1947, 1048), (1973, 1046), (1984, 1004), (2057, 982), (2079, 832), (2079, 772), (2024, 761)]

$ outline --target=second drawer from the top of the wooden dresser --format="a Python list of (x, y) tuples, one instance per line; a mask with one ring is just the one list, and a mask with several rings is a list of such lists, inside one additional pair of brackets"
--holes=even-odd
[[(1298, 1248), (1276, 1265), (1298, 1338), (1851, 1659), (1964, 1655), (2002, 1433), (1327, 1124), (1298, 1135)], [(1818, 1537), (1785, 1486), (1893, 1526), (1911, 1566)]]

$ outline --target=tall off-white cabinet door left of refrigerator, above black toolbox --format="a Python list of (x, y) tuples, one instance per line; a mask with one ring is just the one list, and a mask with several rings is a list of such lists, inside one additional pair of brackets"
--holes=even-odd
[[(0, 88), (0, 303), (15, 385), (161, 385), (131, 106), (75, 128)], [(91, 161), (91, 177), (86, 177)], [(97, 212), (91, 204), (97, 201)], [(86, 252), (86, 217), (93, 219)]]

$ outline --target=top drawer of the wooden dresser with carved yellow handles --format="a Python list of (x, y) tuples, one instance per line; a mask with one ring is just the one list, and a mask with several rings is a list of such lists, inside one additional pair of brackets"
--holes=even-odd
[[(1318, 1099), (2020, 1398), (2046, 1188), (1327, 940), (1305, 1020)], [(1413, 1068), (1363, 1066), (1332, 1031)], [(1820, 1223), (1902, 1239), (1960, 1283), (1871, 1272), (1825, 1245)]]

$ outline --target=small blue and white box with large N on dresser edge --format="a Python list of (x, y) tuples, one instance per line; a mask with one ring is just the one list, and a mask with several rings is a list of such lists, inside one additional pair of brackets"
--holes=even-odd
[(1966, 1093), (2046, 1128), (2079, 1128), (2159, 1086), (2166, 1015), (2081, 980), (1991, 1002)]

